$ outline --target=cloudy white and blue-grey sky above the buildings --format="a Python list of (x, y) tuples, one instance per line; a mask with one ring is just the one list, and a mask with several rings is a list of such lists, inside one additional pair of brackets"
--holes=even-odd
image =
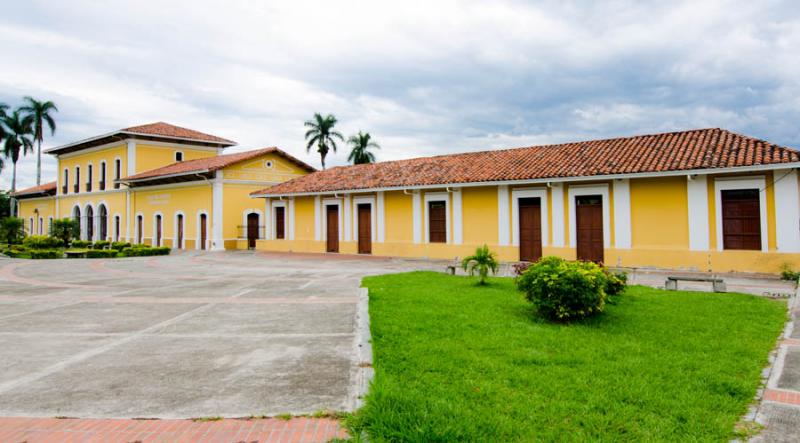
[(318, 165), (314, 112), (380, 160), (716, 126), (800, 147), (791, 0), (26, 0), (0, 51), (0, 101), (60, 109), (46, 147), (167, 121)]

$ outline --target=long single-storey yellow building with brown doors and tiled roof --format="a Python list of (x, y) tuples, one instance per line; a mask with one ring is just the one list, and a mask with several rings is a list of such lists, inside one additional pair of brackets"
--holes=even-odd
[(800, 267), (798, 167), (722, 129), (338, 167), (254, 192), (256, 247), (777, 272)]

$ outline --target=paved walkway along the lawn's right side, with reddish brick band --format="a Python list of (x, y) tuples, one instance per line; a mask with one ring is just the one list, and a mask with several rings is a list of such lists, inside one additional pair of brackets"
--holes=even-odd
[(800, 442), (800, 297), (790, 300), (791, 322), (778, 346), (755, 419), (764, 430), (751, 442)]

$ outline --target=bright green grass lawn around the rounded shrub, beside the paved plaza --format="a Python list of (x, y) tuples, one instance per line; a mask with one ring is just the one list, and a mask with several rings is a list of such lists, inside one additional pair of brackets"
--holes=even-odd
[(584, 323), (540, 319), (513, 280), (364, 279), (376, 377), (350, 420), (371, 441), (727, 441), (785, 302), (629, 287)]

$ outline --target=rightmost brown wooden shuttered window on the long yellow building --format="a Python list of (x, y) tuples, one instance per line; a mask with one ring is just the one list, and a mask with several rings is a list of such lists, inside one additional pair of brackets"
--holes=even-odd
[(761, 206), (758, 189), (722, 191), (724, 249), (761, 250)]

